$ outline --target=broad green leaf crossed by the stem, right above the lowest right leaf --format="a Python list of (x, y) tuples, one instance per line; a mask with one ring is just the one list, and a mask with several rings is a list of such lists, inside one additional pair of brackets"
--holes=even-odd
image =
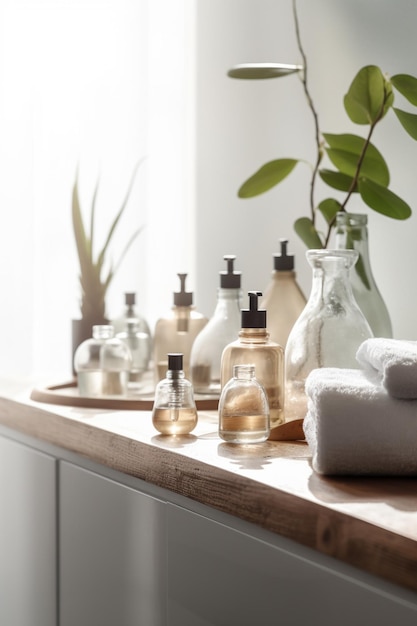
[[(325, 147), (325, 150), (333, 165), (343, 174), (355, 176), (366, 140), (363, 137), (352, 134), (332, 135), (325, 133), (323, 136), (330, 146)], [(382, 154), (371, 143), (366, 147), (360, 173), (380, 185), (385, 187), (389, 185), (388, 166)]]

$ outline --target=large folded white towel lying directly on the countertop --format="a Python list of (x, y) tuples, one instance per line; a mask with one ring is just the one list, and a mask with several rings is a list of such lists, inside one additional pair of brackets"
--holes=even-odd
[(306, 380), (304, 433), (321, 474), (417, 475), (417, 400), (398, 400), (360, 370)]

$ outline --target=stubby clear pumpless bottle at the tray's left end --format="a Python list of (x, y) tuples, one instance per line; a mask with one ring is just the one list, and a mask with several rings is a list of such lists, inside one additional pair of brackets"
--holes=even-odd
[(113, 326), (93, 326), (93, 336), (76, 350), (74, 369), (80, 396), (125, 396), (132, 357), (126, 344), (114, 337)]

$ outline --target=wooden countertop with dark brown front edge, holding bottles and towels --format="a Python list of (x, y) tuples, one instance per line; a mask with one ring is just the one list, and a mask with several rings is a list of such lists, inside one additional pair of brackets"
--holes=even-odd
[(417, 591), (416, 478), (325, 478), (305, 442), (224, 443), (216, 412), (163, 437), (149, 411), (41, 404), (28, 389), (0, 397), (0, 424)]

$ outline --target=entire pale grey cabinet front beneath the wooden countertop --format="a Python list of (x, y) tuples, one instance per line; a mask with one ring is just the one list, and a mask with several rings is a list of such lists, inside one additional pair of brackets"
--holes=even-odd
[(411, 591), (39, 446), (0, 437), (1, 626), (417, 624)]

